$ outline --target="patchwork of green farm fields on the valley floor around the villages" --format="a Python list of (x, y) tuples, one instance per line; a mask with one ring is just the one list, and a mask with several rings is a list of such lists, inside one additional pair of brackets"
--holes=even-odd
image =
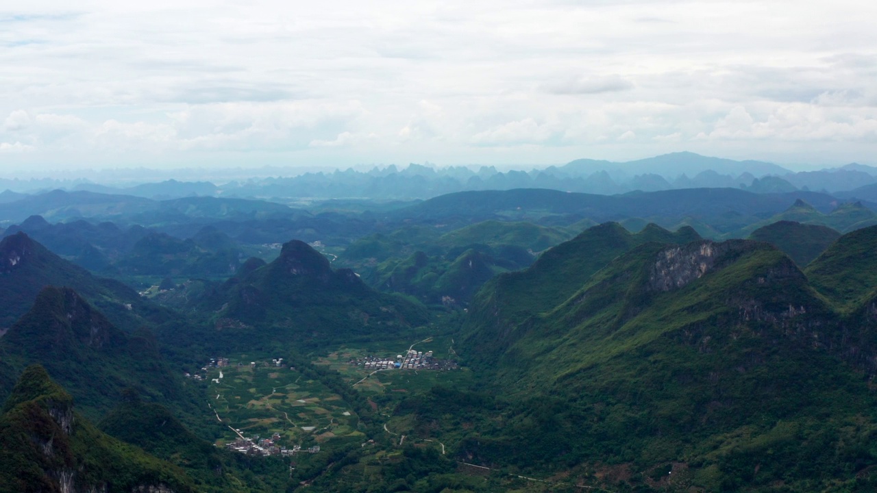
[[(415, 342), (415, 349), (431, 350), (437, 358), (454, 356), (453, 339), (439, 336), (426, 342), (399, 340), (342, 347), (316, 356), (314, 364), (338, 371), (344, 382), (374, 399), (374, 406), (387, 414), (404, 397), (436, 385), (457, 388), (471, 384), (472, 372), (467, 368), (447, 371), (394, 369), (368, 376), (374, 370), (349, 362), (366, 355), (395, 358), (397, 354), (407, 352)], [(342, 397), (323, 383), (290, 368), (286, 361), (282, 367), (276, 367), (271, 361), (273, 357), (243, 354), (230, 358), (228, 367), (209, 368), (206, 382), (210, 408), (225, 425), (239, 430), (246, 437), (260, 435), (264, 438), (279, 433), (282, 437), (279, 444), (286, 447), (316, 444), (332, 447), (362, 439), (360, 418)], [(256, 363), (254, 367), (251, 367), (251, 362)], [(220, 371), (223, 377), (217, 383), (214, 379), (219, 378)], [(237, 438), (231, 428), (217, 445)]]

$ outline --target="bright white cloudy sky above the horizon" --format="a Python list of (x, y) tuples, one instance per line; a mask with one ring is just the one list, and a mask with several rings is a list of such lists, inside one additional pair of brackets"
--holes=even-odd
[(874, 2), (134, 4), (0, 6), (0, 171), (877, 164)]

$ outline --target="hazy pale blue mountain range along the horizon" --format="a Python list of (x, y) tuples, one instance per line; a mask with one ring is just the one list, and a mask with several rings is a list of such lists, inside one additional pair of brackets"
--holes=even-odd
[[(209, 174), (209, 171), (205, 171)], [(766, 178), (768, 180), (766, 180)], [(218, 183), (218, 184), (217, 184)], [(152, 200), (187, 196), (222, 196), (271, 199), (279, 202), (329, 198), (381, 200), (425, 199), (447, 193), (484, 189), (558, 189), (613, 195), (633, 190), (657, 191), (690, 188), (743, 188), (754, 192), (801, 190), (849, 192), (877, 183), (877, 168), (851, 163), (841, 168), (793, 172), (765, 161), (734, 161), (693, 153), (664, 154), (627, 162), (581, 159), (562, 166), (502, 172), (493, 166), (432, 168), (410, 164), (370, 171), (353, 169), (276, 175), (232, 182), (141, 182), (113, 187), (95, 182), (41, 179), (31, 182), (0, 180), (0, 204), (21, 198), (20, 192), (50, 189), (98, 192)], [(872, 195), (873, 196), (873, 195)], [(861, 199), (872, 196), (858, 195)], [(136, 206), (136, 201), (130, 206)], [(142, 205), (142, 204), (141, 204)]]

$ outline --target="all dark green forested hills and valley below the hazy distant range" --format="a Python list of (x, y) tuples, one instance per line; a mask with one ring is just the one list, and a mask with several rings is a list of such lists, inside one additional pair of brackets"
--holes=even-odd
[[(750, 183), (310, 211), (11, 197), (89, 218), (0, 242), (0, 484), (871, 490), (874, 213)], [(427, 345), (453, 365), (357, 366)], [(322, 450), (233, 453), (237, 428)]]

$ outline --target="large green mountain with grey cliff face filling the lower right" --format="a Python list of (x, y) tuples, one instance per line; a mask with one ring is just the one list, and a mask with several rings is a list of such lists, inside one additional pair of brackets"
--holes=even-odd
[[(857, 233), (829, 250), (852, 254), (851, 244), (864, 245)], [(511, 275), (501, 276), (470, 310), (458, 351), (508, 402), (411, 403), (401, 412), (413, 414), (415, 430), (440, 427), (427, 409), (439, 406), (481, 430), (449, 432), (467, 461), (626, 487), (873, 488), (877, 453), (861, 447), (877, 430), (865, 304), (842, 315), (781, 251), (746, 240), (643, 243), (601, 268), (567, 265), (537, 277), (537, 263), (517, 289), (500, 288)], [(521, 308), (529, 293), (573, 286)]]

